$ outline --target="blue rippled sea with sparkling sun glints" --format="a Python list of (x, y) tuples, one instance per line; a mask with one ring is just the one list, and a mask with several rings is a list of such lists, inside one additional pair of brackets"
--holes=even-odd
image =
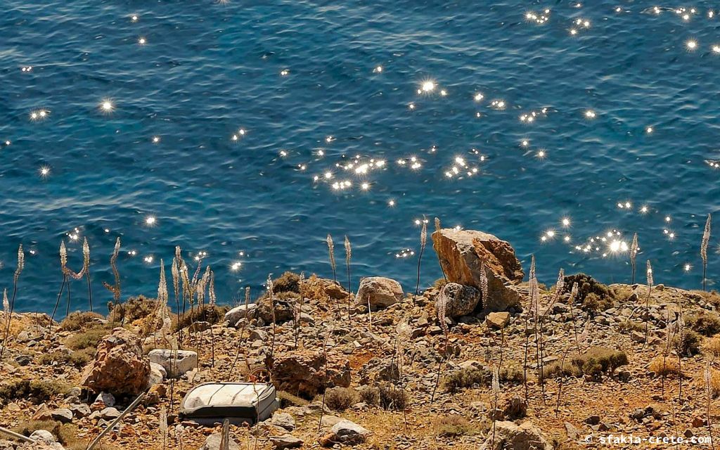
[[(60, 241), (78, 271), (86, 238), (104, 304), (120, 237), (123, 297), (153, 295), (181, 246), (230, 303), (269, 274), (332, 276), (330, 233), (338, 278), (347, 235), (354, 287), (414, 292), (418, 224), (439, 217), (508, 240), (526, 270), (534, 254), (548, 283), (629, 282), (638, 233), (636, 279), (649, 259), (655, 283), (699, 288), (720, 12), (654, 6), (4, 0), (0, 287), (22, 243), (17, 310), (53, 310)], [(441, 276), (430, 246), (421, 273)]]

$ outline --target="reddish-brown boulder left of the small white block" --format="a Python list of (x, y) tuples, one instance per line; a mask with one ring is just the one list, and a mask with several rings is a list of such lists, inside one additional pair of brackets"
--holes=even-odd
[(88, 364), (80, 384), (94, 392), (139, 395), (150, 381), (150, 360), (143, 356), (140, 338), (124, 328), (98, 344), (94, 361)]

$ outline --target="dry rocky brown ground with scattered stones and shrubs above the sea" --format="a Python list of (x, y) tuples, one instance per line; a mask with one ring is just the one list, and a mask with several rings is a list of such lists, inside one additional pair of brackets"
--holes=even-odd
[[(206, 297), (173, 315), (171, 294), (169, 331), (163, 302), (145, 297), (61, 323), (14, 314), (0, 426), (35, 443), (0, 436), (0, 449), (85, 449), (146, 390), (99, 448), (219, 449), (220, 424), (179, 418), (182, 397), (200, 382), (262, 379), (263, 368), (282, 408), (230, 426), (230, 449), (577, 449), (621, 435), (710, 448), (696, 441), (720, 438), (720, 295), (577, 275), (538, 285), (534, 302), (508, 243), (441, 230), (433, 246), (449, 282), (418, 297), (382, 277), (350, 295), (285, 274), (272, 295), (230, 310)], [(197, 360), (163, 367), (157, 349), (173, 341)]]

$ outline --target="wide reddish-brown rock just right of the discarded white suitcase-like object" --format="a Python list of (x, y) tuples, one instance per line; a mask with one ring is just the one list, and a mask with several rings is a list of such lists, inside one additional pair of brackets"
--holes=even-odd
[(350, 362), (345, 356), (328, 351), (328, 372), (322, 351), (289, 351), (276, 356), (273, 378), (279, 390), (312, 398), (325, 386), (350, 386)]

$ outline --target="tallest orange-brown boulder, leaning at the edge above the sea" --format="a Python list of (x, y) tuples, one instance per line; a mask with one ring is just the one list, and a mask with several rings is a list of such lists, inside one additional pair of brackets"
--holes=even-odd
[(481, 289), (480, 267), (485, 264), (487, 299), (485, 312), (502, 311), (518, 305), (523, 269), (515, 250), (505, 240), (475, 230), (443, 228), (432, 234), (433, 248), (449, 282)]

